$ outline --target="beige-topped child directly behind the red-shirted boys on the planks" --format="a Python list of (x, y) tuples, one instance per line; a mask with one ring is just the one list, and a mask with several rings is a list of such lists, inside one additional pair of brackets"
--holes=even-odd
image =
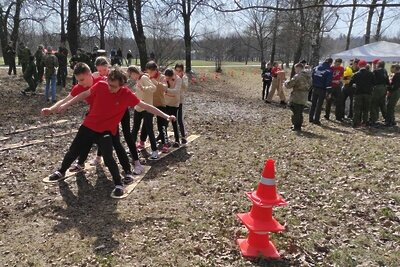
[[(150, 77), (147, 74), (142, 73), (139, 67), (133, 65), (128, 67), (128, 75), (131, 79), (136, 81), (137, 97), (141, 99), (144, 103), (153, 105), (153, 94), (157, 90), (157, 86), (150, 80)], [(142, 129), (146, 129), (145, 131), (149, 135), (151, 144), (152, 152), (149, 159), (156, 160), (158, 159), (159, 155), (157, 150), (157, 141), (154, 136), (154, 130), (153, 130), (153, 114), (147, 112), (140, 105), (135, 106), (135, 111), (133, 113), (133, 129), (132, 129), (133, 142), (136, 142), (137, 140), (137, 135), (139, 133), (142, 120), (143, 120)], [(142, 149), (144, 148), (144, 143), (139, 142), (136, 147), (138, 149)]]

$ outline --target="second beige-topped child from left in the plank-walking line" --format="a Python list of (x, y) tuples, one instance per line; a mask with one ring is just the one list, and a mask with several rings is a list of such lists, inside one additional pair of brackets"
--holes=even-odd
[[(158, 66), (154, 61), (149, 61), (146, 64), (146, 72), (149, 75), (151, 81), (155, 84), (157, 87), (156, 91), (153, 93), (153, 105), (161, 110), (162, 112), (166, 112), (166, 107), (165, 107), (165, 91), (168, 88), (167, 82), (165, 80), (164, 74), (162, 74), (158, 70)], [(167, 128), (167, 121), (164, 120), (162, 117), (157, 116), (157, 129), (158, 129), (158, 136), (156, 140), (161, 140), (162, 148), (161, 152), (162, 153), (168, 153), (169, 151), (169, 146), (168, 146), (168, 135), (166, 132)], [(144, 147), (144, 142), (146, 141), (147, 138), (147, 131), (146, 128), (143, 127), (142, 131), (140, 132), (140, 147)]]

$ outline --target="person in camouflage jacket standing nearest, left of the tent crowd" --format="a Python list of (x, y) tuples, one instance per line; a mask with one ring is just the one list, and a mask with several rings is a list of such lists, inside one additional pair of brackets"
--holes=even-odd
[(285, 83), (286, 88), (293, 89), (290, 94), (289, 107), (293, 112), (292, 124), (294, 131), (301, 131), (303, 125), (303, 110), (307, 104), (308, 91), (311, 86), (311, 77), (304, 71), (304, 65), (295, 65), (296, 75)]

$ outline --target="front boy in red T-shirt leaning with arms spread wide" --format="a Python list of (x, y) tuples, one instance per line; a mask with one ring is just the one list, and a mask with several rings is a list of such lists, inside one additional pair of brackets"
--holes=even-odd
[(69, 166), (79, 156), (80, 150), (87, 149), (87, 147), (96, 143), (103, 153), (104, 163), (113, 177), (114, 194), (116, 196), (124, 194), (118, 165), (112, 155), (112, 135), (117, 133), (118, 124), (126, 109), (139, 106), (168, 121), (176, 119), (174, 116), (168, 116), (154, 106), (138, 99), (125, 86), (126, 82), (126, 74), (120, 68), (113, 68), (109, 72), (107, 82), (98, 82), (89, 90), (80, 93), (58, 108), (57, 112), (65, 111), (69, 106), (81, 100), (86, 100), (91, 106), (74, 141), (64, 156), (61, 168), (50, 176), (50, 180), (62, 179)]

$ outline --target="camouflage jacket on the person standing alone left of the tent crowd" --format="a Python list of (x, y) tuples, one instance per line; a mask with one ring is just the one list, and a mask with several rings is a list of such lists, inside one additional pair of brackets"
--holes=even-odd
[(302, 71), (293, 78), (285, 83), (286, 88), (293, 89), (290, 94), (290, 102), (294, 104), (306, 105), (308, 91), (311, 87), (311, 77), (310, 75)]

